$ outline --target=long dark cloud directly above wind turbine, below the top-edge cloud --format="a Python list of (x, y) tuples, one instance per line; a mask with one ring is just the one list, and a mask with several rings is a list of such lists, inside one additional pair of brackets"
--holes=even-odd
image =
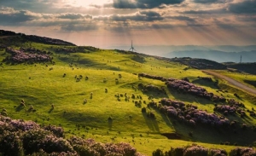
[(154, 20), (163, 20), (164, 18), (157, 12), (154, 11), (140, 11), (137, 14), (113, 14), (109, 17), (97, 17), (95, 20), (113, 20), (113, 21), (154, 21)]

